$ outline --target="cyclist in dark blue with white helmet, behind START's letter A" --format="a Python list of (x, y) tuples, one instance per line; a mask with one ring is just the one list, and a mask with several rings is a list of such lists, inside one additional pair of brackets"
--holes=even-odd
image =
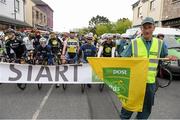
[[(52, 51), (51, 47), (47, 45), (47, 40), (45, 38), (41, 38), (39, 40), (40, 45), (35, 50), (35, 57), (38, 60), (38, 64), (48, 64), (52, 65)], [(44, 63), (46, 62), (46, 63)]]

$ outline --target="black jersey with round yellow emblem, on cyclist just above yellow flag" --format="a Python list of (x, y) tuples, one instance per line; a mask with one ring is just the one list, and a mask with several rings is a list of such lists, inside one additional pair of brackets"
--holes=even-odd
[(101, 46), (103, 47), (103, 57), (111, 57), (112, 48), (115, 47), (115, 43), (108, 43), (107, 41), (104, 41)]

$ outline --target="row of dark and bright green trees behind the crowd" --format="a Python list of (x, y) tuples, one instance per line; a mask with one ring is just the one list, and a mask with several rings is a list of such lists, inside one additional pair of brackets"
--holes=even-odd
[(132, 22), (128, 18), (121, 18), (116, 22), (110, 22), (108, 18), (97, 15), (89, 21), (88, 28), (79, 29), (80, 34), (92, 32), (94, 34), (102, 35), (104, 33), (125, 33), (127, 29), (131, 28)]

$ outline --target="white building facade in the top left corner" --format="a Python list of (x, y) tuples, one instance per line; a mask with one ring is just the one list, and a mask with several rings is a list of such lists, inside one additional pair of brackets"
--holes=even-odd
[(24, 8), (25, 0), (0, 0), (0, 29), (29, 26)]

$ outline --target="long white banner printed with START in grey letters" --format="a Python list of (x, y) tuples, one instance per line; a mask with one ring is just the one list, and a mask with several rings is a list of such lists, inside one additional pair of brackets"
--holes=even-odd
[(100, 84), (89, 64), (40, 66), (0, 63), (0, 83)]

